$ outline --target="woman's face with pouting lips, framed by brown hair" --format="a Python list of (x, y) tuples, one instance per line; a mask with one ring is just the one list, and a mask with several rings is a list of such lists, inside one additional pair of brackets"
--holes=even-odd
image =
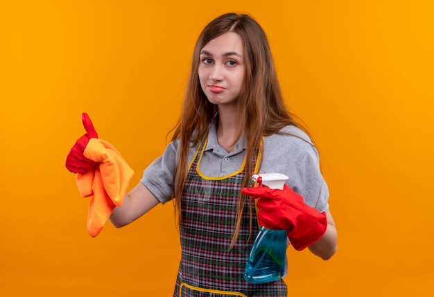
[(243, 50), (241, 37), (228, 32), (212, 39), (200, 51), (200, 86), (209, 102), (235, 105), (245, 75)]

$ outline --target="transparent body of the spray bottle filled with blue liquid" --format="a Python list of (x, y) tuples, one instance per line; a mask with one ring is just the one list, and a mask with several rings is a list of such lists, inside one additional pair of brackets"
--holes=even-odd
[(261, 284), (284, 277), (287, 244), (286, 231), (261, 227), (245, 266), (244, 279)]

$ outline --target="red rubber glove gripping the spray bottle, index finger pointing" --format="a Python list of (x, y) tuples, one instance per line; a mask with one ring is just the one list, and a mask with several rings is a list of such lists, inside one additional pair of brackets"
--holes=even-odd
[(244, 195), (257, 199), (258, 222), (271, 230), (286, 230), (294, 249), (301, 251), (310, 246), (327, 228), (327, 217), (304, 204), (302, 196), (290, 187), (284, 190), (266, 187), (243, 188)]

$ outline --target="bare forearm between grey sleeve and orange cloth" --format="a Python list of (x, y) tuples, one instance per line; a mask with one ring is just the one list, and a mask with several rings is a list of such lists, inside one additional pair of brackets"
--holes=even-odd
[(110, 221), (116, 228), (123, 227), (147, 213), (157, 204), (159, 200), (153, 193), (143, 183), (138, 183), (125, 195), (122, 206), (114, 208)]

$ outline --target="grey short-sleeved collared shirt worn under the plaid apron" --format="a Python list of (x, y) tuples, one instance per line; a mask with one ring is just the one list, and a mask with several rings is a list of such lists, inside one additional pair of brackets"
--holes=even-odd
[[(281, 129), (286, 134), (273, 134), (263, 138), (263, 162), (259, 172), (277, 172), (289, 177), (286, 184), (304, 197), (304, 203), (320, 212), (328, 210), (329, 189), (320, 172), (318, 151), (309, 136), (295, 126)], [(290, 135), (287, 135), (290, 134)], [(166, 203), (173, 199), (172, 188), (179, 140), (172, 141), (164, 154), (159, 156), (144, 170), (141, 183)], [(187, 157), (188, 164), (196, 155), (198, 147), (191, 147)], [(225, 177), (242, 170), (245, 157), (245, 138), (240, 138), (234, 150), (228, 153), (217, 142), (216, 123), (211, 123), (205, 152), (198, 168), (202, 175)], [(175, 181), (176, 183), (177, 181)]]

